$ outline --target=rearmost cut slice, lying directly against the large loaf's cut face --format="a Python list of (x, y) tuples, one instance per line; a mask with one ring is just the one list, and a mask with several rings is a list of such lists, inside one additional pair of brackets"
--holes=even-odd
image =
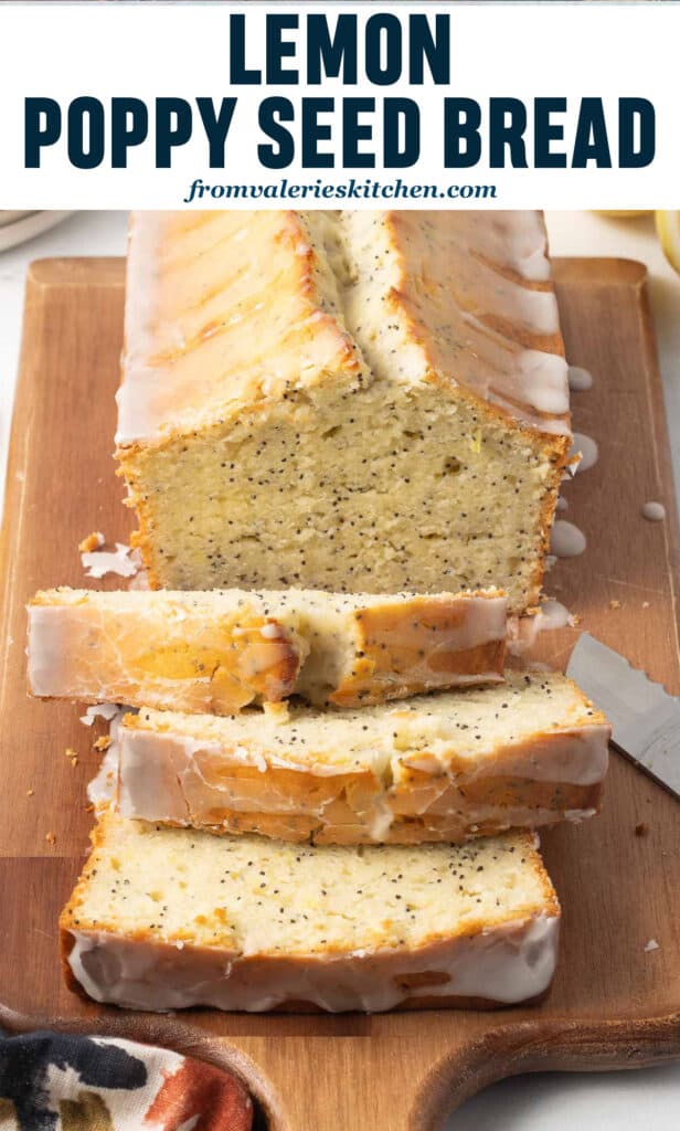
[(503, 679), (505, 598), (96, 593), (28, 606), (35, 696), (227, 715), (298, 694), (356, 706)]

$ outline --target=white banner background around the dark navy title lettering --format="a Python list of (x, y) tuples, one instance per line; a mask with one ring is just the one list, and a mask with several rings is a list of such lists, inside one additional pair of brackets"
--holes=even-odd
[[(303, 5), (270, 5), (270, 10), (303, 10)], [(307, 5), (307, 8), (311, 6)], [(312, 6), (314, 7), (314, 6)], [(406, 6), (385, 5), (402, 18)], [(412, 88), (400, 81), (391, 87), (359, 83), (349, 95), (403, 95), (417, 97), (422, 107), (427, 154), (417, 167), (403, 172), (426, 183), (496, 182), (495, 207), (634, 208), (654, 204), (673, 208), (680, 182), (678, 146), (678, 44), (680, 8), (675, 5), (515, 5), (444, 6), (409, 5), (409, 8), (451, 11), (453, 60), (451, 87), (431, 83)], [(256, 105), (271, 93), (294, 100), (305, 93), (335, 95), (342, 87), (334, 79), (306, 89), (286, 86), (229, 89), (226, 74), (228, 15), (243, 6), (212, 5), (75, 5), (50, 3), (0, 6), (0, 137), (2, 169), (0, 208), (176, 208), (188, 185), (197, 178), (221, 183), (262, 181), (258, 164)], [(267, 6), (250, 3), (246, 42), (249, 66), (259, 66), (263, 45), (262, 20)], [(366, 19), (373, 6), (321, 5), (316, 10), (333, 16), (358, 10)], [(162, 21), (162, 23), (160, 23)], [(37, 28), (40, 27), (40, 34)], [(302, 44), (303, 33), (298, 40)], [(79, 171), (69, 165), (64, 145), (47, 150), (44, 167), (24, 170), (24, 98), (49, 96), (63, 106), (77, 96), (93, 95), (108, 102), (112, 96), (133, 96), (150, 109), (159, 95), (192, 102), (210, 96), (237, 95), (239, 103), (229, 133), (229, 170), (210, 171), (204, 137), (194, 136), (177, 150), (172, 170), (155, 169), (154, 145), (140, 146), (128, 170), (104, 166)], [(471, 170), (443, 170), (444, 95), (476, 98), (482, 107), (490, 96), (512, 96), (529, 107), (538, 96), (568, 98), (566, 139), (573, 140), (576, 113), (584, 96), (604, 98), (613, 113), (621, 96), (643, 96), (656, 106), (656, 159), (647, 169), (616, 167), (616, 129), (612, 126), (611, 170), (489, 171), (482, 162)], [(194, 115), (198, 119), (198, 114)], [(296, 169), (284, 171), (291, 180)], [(297, 171), (299, 172), (299, 170)], [(315, 180), (320, 171), (299, 175)], [(376, 170), (377, 172), (377, 170)], [(268, 174), (271, 176), (272, 174)], [(331, 179), (332, 171), (322, 175)], [(391, 176), (392, 174), (390, 174)], [(337, 171), (339, 179), (346, 174)], [(274, 175), (278, 180), (279, 174)], [(209, 199), (203, 207), (215, 206)], [(229, 207), (249, 201), (230, 200)], [(445, 206), (442, 201), (441, 206)], [(226, 202), (223, 201), (223, 207)], [(258, 207), (267, 202), (258, 201)], [(277, 201), (271, 201), (277, 206)], [(366, 201), (364, 207), (370, 207)], [(400, 207), (419, 202), (400, 201)], [(351, 207), (361, 207), (352, 201)]]

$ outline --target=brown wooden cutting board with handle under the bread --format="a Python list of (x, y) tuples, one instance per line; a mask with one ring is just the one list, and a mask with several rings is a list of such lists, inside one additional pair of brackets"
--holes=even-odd
[[(600, 459), (565, 487), (589, 550), (560, 562), (547, 590), (579, 628), (680, 693), (680, 543), (644, 268), (564, 260), (557, 278), (569, 360), (594, 374), (574, 395), (575, 429), (596, 439)], [(543, 837), (564, 933), (542, 1005), (155, 1017), (66, 990), (56, 917), (87, 851), (85, 789), (101, 731), (81, 726), (76, 706), (27, 699), (24, 605), (38, 587), (87, 584), (77, 547), (90, 530), (129, 538), (112, 461), (122, 310), (120, 260), (30, 269), (0, 569), (0, 1022), (117, 1033), (232, 1064), (279, 1131), (428, 1131), (503, 1076), (680, 1055), (680, 808), (616, 754), (602, 817)], [(665, 504), (666, 521), (644, 520), (650, 499)], [(547, 633), (543, 658), (564, 666), (576, 637)], [(650, 939), (659, 949), (646, 952)]]

